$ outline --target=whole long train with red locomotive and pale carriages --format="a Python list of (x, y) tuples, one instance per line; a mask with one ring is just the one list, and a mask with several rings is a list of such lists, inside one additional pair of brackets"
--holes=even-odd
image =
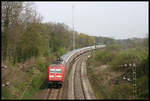
[(105, 45), (84, 47), (75, 49), (63, 55), (62, 57), (64, 60), (58, 57), (57, 60), (48, 67), (48, 87), (61, 88), (63, 86), (65, 73), (65, 67), (63, 64), (66, 63), (70, 57), (75, 58), (85, 52), (104, 47)]

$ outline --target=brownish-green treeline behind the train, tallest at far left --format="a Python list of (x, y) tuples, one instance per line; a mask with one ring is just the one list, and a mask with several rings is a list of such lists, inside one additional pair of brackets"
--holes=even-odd
[[(73, 30), (63, 23), (43, 23), (33, 3), (2, 2), (2, 61), (60, 56), (72, 50)], [(94, 37), (75, 32), (76, 47), (93, 45)]]

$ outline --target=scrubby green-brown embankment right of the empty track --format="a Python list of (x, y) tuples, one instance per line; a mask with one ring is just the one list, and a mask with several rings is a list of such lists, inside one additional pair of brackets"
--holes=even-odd
[(147, 48), (123, 49), (116, 45), (99, 49), (88, 59), (88, 77), (96, 97), (98, 99), (134, 99), (133, 64), (136, 64), (136, 98), (148, 99)]

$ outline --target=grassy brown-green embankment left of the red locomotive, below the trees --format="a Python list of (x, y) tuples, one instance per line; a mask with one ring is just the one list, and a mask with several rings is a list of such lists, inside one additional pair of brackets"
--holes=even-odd
[(6, 62), (7, 69), (2, 69), (2, 99), (32, 99), (46, 80), (47, 67), (56, 57), (36, 57), (25, 63)]

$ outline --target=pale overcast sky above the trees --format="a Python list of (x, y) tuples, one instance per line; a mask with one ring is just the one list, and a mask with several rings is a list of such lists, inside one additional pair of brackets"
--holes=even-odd
[(35, 2), (43, 22), (64, 23), (94, 36), (126, 39), (148, 33), (148, 2)]

